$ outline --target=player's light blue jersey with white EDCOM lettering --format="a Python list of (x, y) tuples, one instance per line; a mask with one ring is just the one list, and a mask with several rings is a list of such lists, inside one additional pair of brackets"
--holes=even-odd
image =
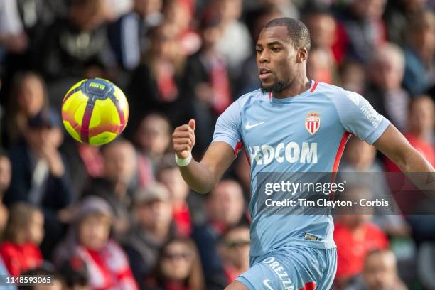
[(331, 215), (258, 214), (258, 173), (335, 172), (350, 134), (372, 144), (389, 124), (361, 95), (322, 82), (311, 81), (294, 97), (255, 90), (232, 103), (219, 117), (213, 141), (230, 144), (236, 153), (245, 146), (249, 156), (250, 256), (284, 247), (335, 248)]

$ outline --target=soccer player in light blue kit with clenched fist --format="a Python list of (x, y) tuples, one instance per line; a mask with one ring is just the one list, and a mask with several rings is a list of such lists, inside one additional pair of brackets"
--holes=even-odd
[(190, 153), (195, 121), (176, 128), (176, 161), (189, 186), (208, 193), (242, 146), (249, 154), (250, 268), (227, 290), (330, 289), (337, 259), (331, 215), (259, 214), (257, 174), (337, 171), (350, 134), (374, 144), (404, 172), (434, 168), (361, 95), (308, 80), (310, 35), (303, 23), (269, 21), (256, 48), (261, 90), (243, 95), (222, 113), (200, 162)]

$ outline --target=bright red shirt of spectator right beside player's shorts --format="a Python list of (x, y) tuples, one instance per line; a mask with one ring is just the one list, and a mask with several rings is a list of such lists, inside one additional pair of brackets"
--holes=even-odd
[(358, 237), (348, 227), (335, 223), (337, 274), (335, 279), (354, 276), (363, 269), (365, 255), (374, 249), (389, 247), (387, 236), (376, 225), (367, 223), (358, 230)]

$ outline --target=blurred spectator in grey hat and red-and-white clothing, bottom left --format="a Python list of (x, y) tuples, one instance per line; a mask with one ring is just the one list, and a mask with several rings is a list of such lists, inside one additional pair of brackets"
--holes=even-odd
[(73, 225), (55, 252), (55, 264), (84, 262), (92, 289), (138, 289), (122, 248), (110, 238), (112, 210), (96, 196), (82, 200)]

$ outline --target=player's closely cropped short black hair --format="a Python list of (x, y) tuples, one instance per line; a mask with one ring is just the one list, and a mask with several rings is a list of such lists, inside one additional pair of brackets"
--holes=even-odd
[(295, 48), (305, 48), (307, 51), (311, 48), (310, 31), (306, 25), (297, 19), (289, 17), (275, 18), (266, 23), (264, 28), (286, 26), (287, 33)]

